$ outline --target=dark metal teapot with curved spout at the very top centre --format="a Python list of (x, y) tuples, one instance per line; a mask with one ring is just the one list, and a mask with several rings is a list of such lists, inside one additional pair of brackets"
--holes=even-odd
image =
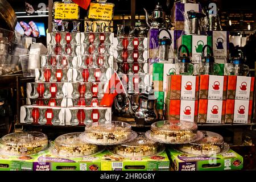
[(166, 13), (163, 11), (162, 6), (158, 2), (155, 10), (152, 12), (152, 18), (149, 18), (147, 10), (144, 9), (146, 14), (147, 26), (151, 28), (165, 28), (166, 27)]

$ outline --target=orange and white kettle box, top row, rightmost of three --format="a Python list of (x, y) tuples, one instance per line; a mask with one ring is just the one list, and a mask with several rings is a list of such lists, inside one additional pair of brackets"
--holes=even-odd
[(254, 77), (228, 76), (227, 99), (253, 100)]

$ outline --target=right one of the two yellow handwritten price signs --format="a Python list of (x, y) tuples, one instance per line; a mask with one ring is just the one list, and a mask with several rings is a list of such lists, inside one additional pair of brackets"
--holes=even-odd
[(111, 21), (114, 15), (113, 3), (90, 3), (88, 19)]

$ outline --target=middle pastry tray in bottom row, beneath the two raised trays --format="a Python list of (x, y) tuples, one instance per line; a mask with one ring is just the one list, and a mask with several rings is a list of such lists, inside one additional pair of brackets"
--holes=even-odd
[(121, 156), (143, 157), (154, 155), (158, 152), (159, 144), (149, 140), (144, 133), (137, 133), (138, 137), (128, 143), (112, 147), (112, 152)]

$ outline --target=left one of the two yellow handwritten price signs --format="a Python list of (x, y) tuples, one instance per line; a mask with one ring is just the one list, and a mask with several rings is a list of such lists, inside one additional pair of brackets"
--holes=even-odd
[(75, 3), (55, 2), (53, 5), (54, 19), (76, 20), (79, 19), (79, 6)]

